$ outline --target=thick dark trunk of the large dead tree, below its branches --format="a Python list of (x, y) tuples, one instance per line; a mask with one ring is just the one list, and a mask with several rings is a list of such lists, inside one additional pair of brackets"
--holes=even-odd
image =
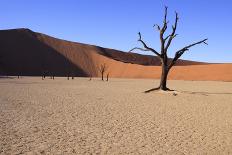
[(164, 61), (162, 62), (162, 74), (161, 74), (161, 78), (160, 78), (160, 86), (159, 89), (160, 90), (168, 90), (167, 88), (167, 77), (168, 77), (168, 65), (167, 63)]

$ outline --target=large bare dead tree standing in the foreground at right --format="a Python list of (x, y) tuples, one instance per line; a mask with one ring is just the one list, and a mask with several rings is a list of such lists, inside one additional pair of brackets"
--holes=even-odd
[[(141, 44), (143, 45), (143, 48), (135, 47), (135, 48), (132, 49), (132, 50), (137, 49), (137, 50), (142, 50), (142, 51), (151, 51), (156, 56), (158, 56), (158, 58), (161, 61), (162, 74), (161, 74), (161, 78), (160, 78), (160, 85), (159, 85), (159, 87), (151, 89), (151, 90), (148, 90), (146, 92), (150, 92), (152, 90), (164, 90), (164, 91), (170, 90), (170, 89), (167, 88), (167, 77), (168, 77), (168, 73), (169, 73), (170, 69), (176, 64), (177, 60), (186, 51), (189, 51), (189, 49), (191, 47), (193, 47), (195, 45), (198, 45), (198, 44), (201, 44), (201, 43), (207, 44), (206, 41), (208, 39), (203, 39), (201, 41), (198, 41), (198, 42), (195, 42), (195, 43), (190, 44), (188, 46), (185, 46), (185, 47), (181, 48), (180, 50), (176, 51), (175, 57), (171, 61), (168, 61), (168, 56), (167, 56), (167, 54), (168, 54), (168, 48), (170, 47), (170, 45), (172, 43), (172, 40), (177, 36), (176, 29), (177, 29), (177, 24), (178, 24), (179, 16), (178, 16), (178, 13), (175, 12), (175, 23), (174, 23), (174, 25), (172, 25), (172, 31), (171, 31), (171, 33), (169, 35), (165, 36), (165, 32), (166, 32), (166, 30), (168, 28), (167, 13), (168, 13), (168, 8), (165, 7), (164, 21), (163, 21), (162, 27), (159, 26), (159, 25), (157, 25), (157, 24), (154, 25), (154, 27), (156, 27), (157, 30), (159, 31), (159, 37), (160, 37), (160, 43), (161, 43), (160, 52), (158, 52), (157, 50), (149, 47), (143, 41), (142, 35), (141, 35), (140, 32), (138, 33), (138, 35), (139, 35), (138, 41), (141, 42)], [(132, 51), (132, 50), (130, 50), (130, 51)]]

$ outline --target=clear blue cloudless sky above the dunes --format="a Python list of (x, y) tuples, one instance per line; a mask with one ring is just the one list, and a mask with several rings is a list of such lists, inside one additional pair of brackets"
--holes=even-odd
[(165, 5), (170, 24), (174, 11), (180, 16), (170, 57), (175, 50), (208, 38), (208, 46), (193, 47), (182, 58), (232, 62), (232, 0), (1, 0), (0, 29), (29, 28), (123, 51), (140, 46), (141, 31), (147, 44), (159, 50), (153, 25), (162, 24)]

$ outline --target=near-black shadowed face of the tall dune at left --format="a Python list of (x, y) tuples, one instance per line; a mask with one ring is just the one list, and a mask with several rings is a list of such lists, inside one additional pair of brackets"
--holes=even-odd
[(73, 74), (87, 76), (87, 73), (73, 64), (56, 49), (37, 39), (27, 29), (4, 30), (0, 32), (1, 73), (6, 75), (65, 76)]

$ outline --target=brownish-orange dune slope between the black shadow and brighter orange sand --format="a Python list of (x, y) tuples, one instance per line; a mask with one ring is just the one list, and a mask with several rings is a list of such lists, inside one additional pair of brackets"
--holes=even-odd
[(95, 46), (75, 43), (36, 33), (37, 38), (66, 57), (74, 65), (85, 71), (88, 76), (98, 76), (98, 62), (94, 59)]

